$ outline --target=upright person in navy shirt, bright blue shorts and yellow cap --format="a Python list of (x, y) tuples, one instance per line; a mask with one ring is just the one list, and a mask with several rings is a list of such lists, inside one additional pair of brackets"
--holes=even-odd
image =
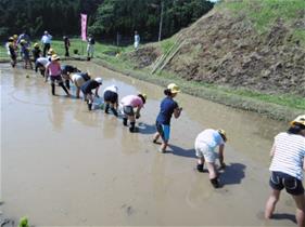
[(182, 111), (182, 108), (174, 101), (174, 97), (176, 97), (179, 92), (180, 89), (175, 83), (168, 84), (167, 89), (164, 90), (166, 97), (160, 105), (160, 112), (155, 122), (156, 133), (153, 137), (153, 143), (155, 144), (157, 143), (157, 139), (162, 137), (162, 144), (158, 149), (160, 152), (165, 152), (168, 145), (171, 116), (174, 115), (175, 118), (179, 118)]

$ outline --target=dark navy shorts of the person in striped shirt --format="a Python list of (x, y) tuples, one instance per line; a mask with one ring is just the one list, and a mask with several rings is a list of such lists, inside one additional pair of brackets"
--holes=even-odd
[(293, 196), (304, 193), (303, 184), (300, 179), (282, 172), (271, 172), (269, 185), (275, 190), (285, 188), (287, 192)]

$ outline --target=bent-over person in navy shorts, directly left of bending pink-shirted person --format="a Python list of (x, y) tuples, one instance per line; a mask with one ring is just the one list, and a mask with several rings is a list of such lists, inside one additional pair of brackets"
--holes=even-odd
[(105, 102), (105, 114), (109, 114), (109, 109), (111, 109), (113, 115), (117, 117), (117, 106), (118, 106), (117, 86), (110, 85), (105, 88), (103, 96)]

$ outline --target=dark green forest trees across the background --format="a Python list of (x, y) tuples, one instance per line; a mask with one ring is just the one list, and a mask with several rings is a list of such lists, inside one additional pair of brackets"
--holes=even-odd
[(0, 39), (22, 34), (40, 37), (79, 36), (80, 13), (88, 14), (88, 31), (114, 38), (117, 32), (142, 39), (158, 36), (161, 2), (164, 5), (163, 37), (169, 37), (213, 8), (207, 0), (0, 0)]

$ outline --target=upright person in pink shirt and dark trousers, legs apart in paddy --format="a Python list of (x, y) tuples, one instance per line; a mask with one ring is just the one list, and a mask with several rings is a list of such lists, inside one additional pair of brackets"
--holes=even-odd
[(51, 63), (47, 65), (45, 77), (46, 82), (48, 81), (48, 77), (51, 79), (51, 88), (52, 88), (52, 95), (55, 95), (55, 81), (59, 82), (59, 85), (62, 86), (62, 89), (65, 91), (67, 96), (69, 96), (68, 91), (64, 86), (63, 80), (62, 80), (62, 70), (61, 70), (61, 64), (59, 63), (60, 57), (56, 54), (53, 54), (51, 56)]

